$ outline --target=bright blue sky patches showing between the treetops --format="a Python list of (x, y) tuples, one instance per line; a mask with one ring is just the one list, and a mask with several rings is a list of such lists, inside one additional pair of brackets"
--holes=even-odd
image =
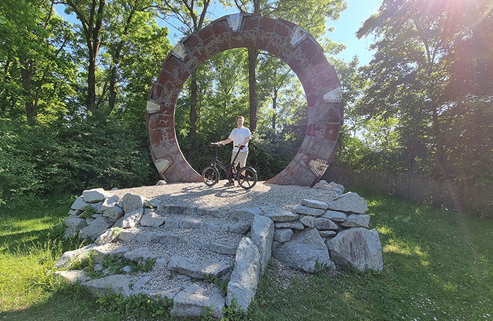
[[(347, 0), (347, 3), (348, 8), (341, 13), (339, 20), (332, 21), (327, 19), (327, 28), (334, 27), (335, 29), (332, 32), (326, 32), (325, 36), (332, 39), (332, 41), (347, 46), (342, 53), (336, 55), (337, 58), (342, 58), (349, 62), (354, 55), (358, 55), (359, 65), (366, 65), (370, 62), (374, 53), (374, 51), (370, 51), (369, 49), (372, 37), (358, 39), (356, 38), (356, 31), (361, 27), (363, 21), (378, 10), (380, 4), (382, 4), (382, 0)], [(71, 23), (78, 23), (74, 15), (65, 15), (63, 8), (63, 5), (56, 5), (58, 14), (65, 17)], [(210, 19), (215, 20), (223, 15), (237, 13), (238, 11), (236, 8), (230, 8), (229, 11), (226, 11), (222, 6), (212, 4), (209, 12), (212, 14)], [(175, 45), (182, 38), (182, 34), (177, 32), (170, 23), (160, 20), (158, 21), (158, 25), (168, 27), (171, 44)]]

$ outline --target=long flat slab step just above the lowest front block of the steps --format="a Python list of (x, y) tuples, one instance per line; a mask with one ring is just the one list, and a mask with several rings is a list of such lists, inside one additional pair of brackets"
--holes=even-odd
[(206, 262), (196, 263), (194, 258), (185, 256), (172, 256), (168, 262), (168, 269), (177, 273), (195, 277), (196, 279), (205, 279), (207, 275), (215, 277), (224, 277), (228, 275), (233, 266), (225, 262)]

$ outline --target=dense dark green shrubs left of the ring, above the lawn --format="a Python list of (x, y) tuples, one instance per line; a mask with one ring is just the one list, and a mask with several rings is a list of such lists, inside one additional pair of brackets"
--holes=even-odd
[(0, 204), (146, 185), (155, 174), (146, 140), (118, 119), (37, 126), (0, 119)]

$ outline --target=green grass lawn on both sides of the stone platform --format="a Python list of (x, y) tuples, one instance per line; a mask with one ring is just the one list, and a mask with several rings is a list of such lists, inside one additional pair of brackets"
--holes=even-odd
[[(282, 289), (268, 271), (246, 320), (493, 320), (492, 220), (361, 195), (380, 234), (383, 272), (321, 272)], [(63, 251), (80, 246), (61, 241), (54, 228), (67, 212), (0, 210), (0, 320), (139, 319), (142, 304), (104, 308), (49, 277)]]

